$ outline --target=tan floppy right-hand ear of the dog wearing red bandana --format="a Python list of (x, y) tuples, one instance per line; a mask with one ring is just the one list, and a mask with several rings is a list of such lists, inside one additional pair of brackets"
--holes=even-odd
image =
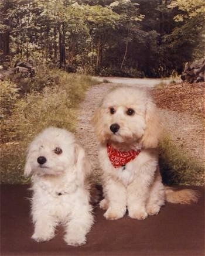
[(162, 124), (160, 122), (159, 111), (151, 100), (146, 105), (146, 128), (142, 136), (142, 148), (156, 148), (158, 146)]

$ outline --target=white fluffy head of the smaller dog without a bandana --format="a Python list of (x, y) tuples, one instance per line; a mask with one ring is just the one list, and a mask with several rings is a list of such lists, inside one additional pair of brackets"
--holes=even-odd
[(89, 169), (84, 149), (76, 144), (73, 134), (65, 129), (49, 127), (31, 142), (25, 175), (60, 175), (76, 171), (79, 179)]

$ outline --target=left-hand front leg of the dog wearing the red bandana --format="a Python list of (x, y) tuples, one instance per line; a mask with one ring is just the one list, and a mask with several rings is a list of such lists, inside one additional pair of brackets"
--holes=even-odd
[(105, 191), (108, 209), (104, 213), (107, 220), (117, 220), (122, 218), (126, 213), (127, 195), (125, 186), (115, 180), (109, 179), (105, 183), (103, 190)]

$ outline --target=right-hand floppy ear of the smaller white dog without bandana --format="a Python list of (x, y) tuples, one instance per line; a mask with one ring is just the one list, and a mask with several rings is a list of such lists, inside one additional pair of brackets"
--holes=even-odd
[(91, 175), (91, 165), (86, 158), (84, 149), (78, 144), (74, 145), (74, 157), (77, 169), (77, 179), (80, 185), (83, 186), (85, 184), (86, 178)]

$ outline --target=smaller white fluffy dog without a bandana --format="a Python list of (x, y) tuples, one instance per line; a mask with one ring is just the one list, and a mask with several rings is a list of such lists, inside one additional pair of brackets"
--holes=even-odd
[(86, 178), (90, 174), (84, 149), (73, 134), (49, 127), (29, 146), (25, 175), (32, 175), (32, 218), (37, 242), (54, 237), (57, 224), (66, 228), (69, 245), (83, 245), (93, 224), (90, 193)]

